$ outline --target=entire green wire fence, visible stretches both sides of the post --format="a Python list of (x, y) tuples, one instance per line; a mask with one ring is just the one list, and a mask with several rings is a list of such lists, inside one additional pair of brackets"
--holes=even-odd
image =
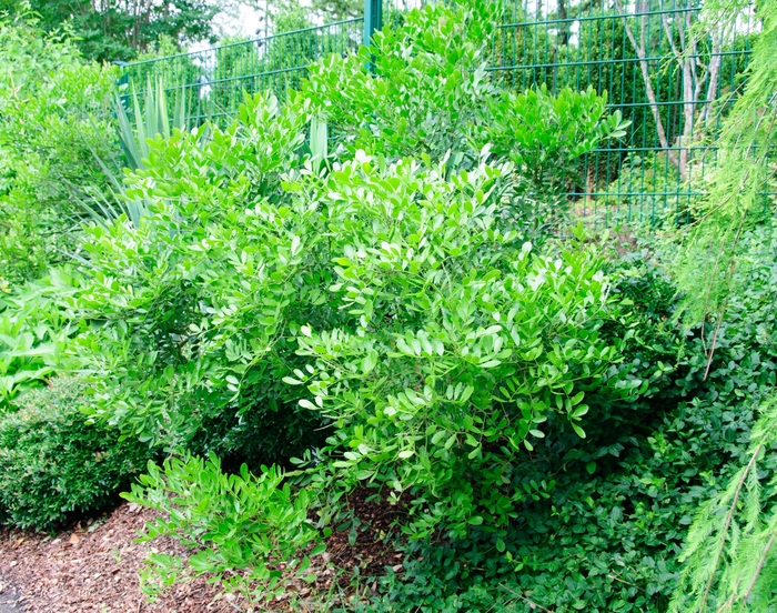
[[(693, 187), (715, 163), (709, 143), (743, 87), (759, 31), (754, 12), (702, 29), (699, 1), (506, 0), (490, 53), (495, 83), (593, 87), (632, 122), (626, 138), (581, 161), (582, 179), (568, 194), (581, 213), (607, 223), (653, 220), (667, 209), (687, 209), (699, 195)], [(398, 23), (423, 3), (365, 0), (364, 17), (137, 62), (125, 76), (139, 88), (147, 79), (183, 87), (195, 119), (231, 115), (243, 90), (283, 98), (311, 61), (356, 50), (374, 29)]]

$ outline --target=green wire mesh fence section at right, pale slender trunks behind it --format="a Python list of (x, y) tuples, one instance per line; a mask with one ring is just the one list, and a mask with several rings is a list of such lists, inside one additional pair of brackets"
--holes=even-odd
[(688, 210), (743, 86), (754, 14), (704, 26), (694, 0), (513, 0), (492, 49), (494, 81), (523, 90), (593, 87), (630, 121), (581, 162), (569, 198), (610, 223)]

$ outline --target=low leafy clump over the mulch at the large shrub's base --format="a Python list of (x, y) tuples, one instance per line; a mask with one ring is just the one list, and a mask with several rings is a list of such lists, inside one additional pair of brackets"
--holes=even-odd
[(239, 591), (252, 601), (272, 600), (285, 592), (293, 575), (314, 581), (309, 555), (324, 546), (307, 519), (306, 493), (292, 492), (282, 472), (262, 466), (254, 476), (243, 464), (240, 474), (221, 471), (215, 455), (172, 458), (160, 470), (149, 463), (148, 474), (131, 494), (122, 494), (163, 511), (168, 519), (147, 524), (141, 542), (172, 536), (195, 550), (186, 559), (154, 553), (143, 573), (143, 591), (155, 595), (181, 575), (214, 574), (228, 592)]

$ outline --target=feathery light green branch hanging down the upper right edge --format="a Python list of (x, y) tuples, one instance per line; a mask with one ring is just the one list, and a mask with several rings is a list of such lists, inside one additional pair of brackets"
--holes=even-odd
[[(707, 19), (736, 20), (739, 14), (728, 1), (713, 0), (705, 10)], [(704, 187), (708, 195), (679, 257), (677, 281), (687, 297), (682, 313), (688, 324), (715, 318), (719, 325), (733, 290), (733, 272), (745, 263), (739, 239), (768, 210), (767, 194), (774, 192), (769, 150), (777, 144), (777, 66), (773, 61), (777, 3), (760, 2), (758, 16), (763, 31), (748, 67), (747, 87), (723, 123), (717, 169)], [(716, 334), (709, 341), (710, 355), (715, 340)]]

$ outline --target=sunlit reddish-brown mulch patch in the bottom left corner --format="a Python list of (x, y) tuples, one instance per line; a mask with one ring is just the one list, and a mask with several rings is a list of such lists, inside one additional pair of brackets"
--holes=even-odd
[[(17, 607), (34, 613), (234, 612), (204, 579), (179, 584), (150, 604), (138, 571), (150, 552), (182, 553), (169, 540), (133, 543), (153, 511), (124, 504), (56, 536), (0, 530), (0, 582), (21, 592)], [(238, 604), (238, 603), (234, 603)]]

